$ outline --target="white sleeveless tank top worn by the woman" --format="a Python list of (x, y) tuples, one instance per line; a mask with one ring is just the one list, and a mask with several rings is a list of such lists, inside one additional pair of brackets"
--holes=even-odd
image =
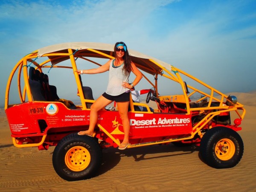
[(123, 88), (122, 83), (129, 82), (130, 73), (125, 75), (122, 71), (124, 64), (115, 67), (113, 62), (114, 59), (109, 66), (108, 87), (106, 93), (111, 96), (117, 96), (129, 90), (128, 88)]

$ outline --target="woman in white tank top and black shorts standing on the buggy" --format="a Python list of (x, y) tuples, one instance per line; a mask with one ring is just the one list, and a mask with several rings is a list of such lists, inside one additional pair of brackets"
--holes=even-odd
[[(93, 105), (90, 107), (90, 126), (86, 131), (80, 131), (79, 135), (93, 135), (98, 119), (98, 111), (115, 101), (119, 111), (124, 129), (124, 140), (119, 145), (119, 149), (127, 148), (129, 143), (130, 121), (128, 118), (128, 105), (130, 101), (130, 90), (142, 79), (142, 73), (131, 61), (127, 46), (123, 42), (117, 42), (114, 47), (115, 59), (109, 60), (106, 64), (96, 69), (77, 70), (78, 74), (96, 74), (109, 70), (108, 87)], [(136, 78), (129, 84), (131, 71)]]

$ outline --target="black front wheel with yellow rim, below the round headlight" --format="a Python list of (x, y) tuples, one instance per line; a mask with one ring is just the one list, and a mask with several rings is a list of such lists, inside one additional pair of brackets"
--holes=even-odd
[(207, 131), (200, 143), (200, 154), (207, 165), (216, 169), (236, 166), (244, 152), (244, 143), (239, 134), (225, 127)]

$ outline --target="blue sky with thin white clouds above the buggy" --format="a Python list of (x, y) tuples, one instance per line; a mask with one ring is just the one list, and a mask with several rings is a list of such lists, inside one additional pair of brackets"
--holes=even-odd
[(256, 90), (255, 10), (256, 0), (1, 1), (0, 106), (24, 55), (76, 41), (124, 41), (223, 93)]

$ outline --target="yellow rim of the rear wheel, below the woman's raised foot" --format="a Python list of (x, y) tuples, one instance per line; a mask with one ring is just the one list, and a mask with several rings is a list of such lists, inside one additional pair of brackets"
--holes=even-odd
[(67, 167), (75, 172), (86, 169), (90, 160), (90, 152), (81, 146), (70, 148), (65, 155), (65, 163)]

